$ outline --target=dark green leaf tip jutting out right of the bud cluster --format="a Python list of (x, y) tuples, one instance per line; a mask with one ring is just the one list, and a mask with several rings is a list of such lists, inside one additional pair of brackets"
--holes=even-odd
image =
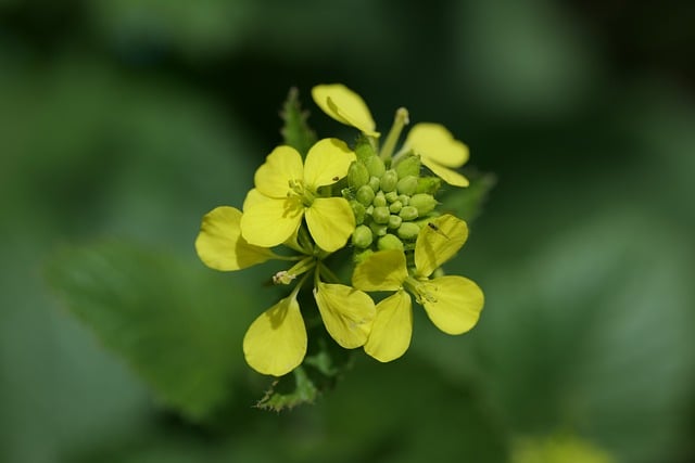
[(497, 182), (494, 173), (466, 172), (470, 184), (467, 188), (450, 190), (439, 200), (443, 203), (442, 211), (472, 222), (481, 213), (490, 191)]

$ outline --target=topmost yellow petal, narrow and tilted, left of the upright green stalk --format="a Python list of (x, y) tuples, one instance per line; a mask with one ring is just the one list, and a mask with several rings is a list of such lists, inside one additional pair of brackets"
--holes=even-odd
[(367, 103), (342, 83), (320, 85), (312, 89), (314, 102), (324, 113), (369, 137), (379, 137)]

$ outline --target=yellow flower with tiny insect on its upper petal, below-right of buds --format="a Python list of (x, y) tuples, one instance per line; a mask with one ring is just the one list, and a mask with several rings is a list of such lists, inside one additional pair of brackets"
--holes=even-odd
[(388, 362), (408, 348), (413, 331), (410, 296), (425, 308), (434, 325), (447, 334), (463, 334), (480, 317), (484, 297), (472, 281), (445, 275), (430, 279), (434, 270), (451, 259), (466, 242), (466, 222), (445, 215), (422, 227), (415, 244), (415, 270), (408, 274), (402, 250), (382, 250), (355, 268), (353, 286), (363, 291), (395, 291), (377, 305), (377, 313), (365, 351)]

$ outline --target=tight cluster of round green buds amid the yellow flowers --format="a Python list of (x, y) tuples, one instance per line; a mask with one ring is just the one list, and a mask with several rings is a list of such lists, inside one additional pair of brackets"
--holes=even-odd
[(439, 179), (421, 178), (420, 158), (413, 154), (384, 163), (369, 145), (356, 152), (343, 190), (355, 215), (355, 252), (412, 249), (420, 228), (435, 214)]

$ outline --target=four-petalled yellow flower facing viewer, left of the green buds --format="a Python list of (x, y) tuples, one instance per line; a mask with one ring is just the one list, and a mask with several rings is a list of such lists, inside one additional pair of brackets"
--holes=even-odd
[(305, 163), (293, 147), (276, 147), (256, 170), (256, 192), (247, 198), (241, 218), (242, 236), (256, 246), (276, 246), (290, 239), (305, 218), (321, 249), (343, 247), (355, 229), (352, 208), (342, 197), (320, 197), (318, 189), (345, 177), (354, 159), (355, 154), (337, 139), (319, 140)]

